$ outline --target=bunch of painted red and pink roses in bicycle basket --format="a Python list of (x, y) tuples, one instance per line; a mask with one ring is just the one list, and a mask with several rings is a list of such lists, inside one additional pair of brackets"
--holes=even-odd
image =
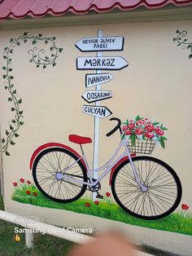
[(151, 139), (160, 143), (162, 148), (165, 148), (164, 141), (167, 140), (164, 135), (164, 131), (168, 128), (160, 124), (159, 121), (152, 122), (148, 118), (140, 117), (139, 115), (135, 119), (127, 119), (122, 123), (122, 139), (129, 139), (132, 146), (135, 146), (136, 139), (145, 141)]

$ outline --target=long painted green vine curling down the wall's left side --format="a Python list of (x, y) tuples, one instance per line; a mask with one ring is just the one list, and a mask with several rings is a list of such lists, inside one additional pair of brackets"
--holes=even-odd
[(33, 46), (36, 45), (37, 42), (44, 42), (47, 45), (50, 44), (50, 54), (46, 55), (44, 49), (38, 50), (37, 46), (34, 46), (32, 49), (28, 50), (28, 54), (32, 56), (29, 62), (36, 64), (37, 68), (42, 67), (44, 69), (48, 65), (55, 67), (55, 61), (58, 58), (59, 53), (63, 51), (62, 47), (55, 45), (55, 39), (55, 37), (43, 37), (41, 33), (37, 36), (33, 36), (24, 32), (19, 38), (11, 38), (10, 46), (3, 49), (3, 59), (6, 61), (6, 65), (2, 67), (4, 70), (2, 78), (5, 80), (5, 90), (7, 90), (9, 94), (8, 101), (12, 104), (11, 112), (15, 113), (13, 119), (9, 121), (9, 126), (5, 131), (4, 138), (2, 138), (2, 152), (5, 152), (7, 156), (10, 156), (10, 152), (8, 152), (9, 145), (15, 145), (14, 140), (19, 137), (18, 131), (20, 130), (20, 126), (24, 125), (24, 112), (20, 108), (22, 99), (20, 98), (20, 95), (17, 94), (17, 90), (13, 83), (14, 77), (11, 74), (13, 71), (13, 68), (11, 67), (11, 55), (13, 54), (15, 47), (20, 46), (21, 42), (26, 43), (30, 40), (32, 41)]

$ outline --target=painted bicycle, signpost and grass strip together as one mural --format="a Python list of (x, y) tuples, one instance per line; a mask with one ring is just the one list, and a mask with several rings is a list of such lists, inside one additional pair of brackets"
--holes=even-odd
[[(119, 42), (117, 45), (116, 39)], [(113, 42), (115, 46), (111, 50), (107, 49), (107, 42), (109, 47), (112, 47)], [(121, 62), (120, 56), (103, 57), (101, 51), (122, 51), (123, 42), (123, 37), (106, 38), (103, 33), (98, 32), (98, 38), (84, 38), (76, 43), (81, 51), (97, 52), (96, 57), (76, 59), (77, 69), (97, 71), (96, 74), (85, 75), (85, 86), (95, 86), (95, 90), (87, 90), (82, 95), (88, 103), (94, 102), (94, 105), (83, 106), (84, 113), (85, 108), (89, 108), (92, 109), (89, 115), (94, 116), (93, 170), (89, 168), (82, 147), (86, 143), (92, 143), (92, 139), (79, 135), (68, 136), (69, 141), (80, 145), (81, 154), (62, 143), (43, 144), (33, 152), (30, 160), (34, 183), (20, 177), (13, 183), (12, 199), (192, 235), (189, 206), (182, 203), (181, 210), (174, 212), (181, 202), (182, 194), (181, 181), (176, 171), (164, 161), (146, 156), (157, 145), (165, 148), (167, 128), (159, 121), (137, 116), (134, 119), (128, 118), (121, 125), (119, 118), (112, 117), (110, 121), (117, 123), (107, 136), (119, 132), (120, 143), (106, 165), (98, 167), (99, 118), (108, 116), (107, 111), (111, 112), (106, 106), (100, 106), (100, 100), (110, 99), (112, 96), (111, 90), (101, 90), (101, 84), (110, 82), (113, 78), (113, 75), (102, 73), (102, 70), (128, 66), (123, 58)], [(136, 156), (136, 153), (140, 155)], [(101, 192), (101, 182), (110, 172), (111, 192)]]

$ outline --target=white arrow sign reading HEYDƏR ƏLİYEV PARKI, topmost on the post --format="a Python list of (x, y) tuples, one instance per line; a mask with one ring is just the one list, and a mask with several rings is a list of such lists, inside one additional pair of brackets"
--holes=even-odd
[(124, 37), (83, 38), (76, 47), (80, 51), (123, 51)]

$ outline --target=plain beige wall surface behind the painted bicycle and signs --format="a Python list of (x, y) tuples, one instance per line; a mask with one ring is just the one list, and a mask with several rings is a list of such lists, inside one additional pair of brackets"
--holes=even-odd
[[(122, 121), (132, 119), (140, 114), (152, 121), (159, 121), (168, 127), (166, 131), (168, 141), (165, 141), (165, 149), (156, 147), (152, 153), (172, 166), (181, 179), (183, 188), (181, 203), (175, 210), (180, 214), (182, 221), (191, 225), (191, 60), (189, 59), (190, 49), (182, 49), (173, 42), (177, 37), (177, 29), (186, 30), (185, 38), (192, 40), (192, 21), (181, 20), (172, 22), (152, 22), (134, 24), (107, 24), (101, 26), (63, 27), (55, 29), (30, 29), (28, 35), (42, 38), (53, 38), (55, 44), (63, 51), (58, 50), (56, 65), (47, 65), (46, 68), (37, 68), (36, 64), (30, 63), (32, 55), (28, 54), (29, 49), (37, 46), (38, 49), (45, 49), (47, 55), (50, 52), (50, 42), (33, 39), (28, 42), (20, 42), (11, 55), (12, 82), (15, 86), (15, 94), (22, 99), (20, 110), (24, 111), (21, 121), (18, 138), (13, 139), (14, 145), (9, 144), (8, 152), (11, 156), (3, 153), (3, 177), (5, 190), (5, 207), (7, 211), (21, 215), (38, 216), (41, 221), (60, 224), (63, 226), (73, 225), (74, 227), (93, 227), (95, 230), (102, 230), (103, 227), (120, 227), (132, 235), (133, 241), (146, 243), (168, 249), (175, 253), (190, 255), (191, 229), (185, 235), (179, 235), (180, 227), (170, 230), (172, 242), (164, 241), (169, 232), (159, 232), (155, 227), (146, 223), (112, 222), (105, 218), (97, 218), (91, 215), (75, 214), (69, 210), (45, 208), (33, 206), (33, 199), (38, 199), (35, 194), (26, 194), (28, 204), (20, 203), (12, 199), (15, 189), (19, 186), (31, 186), (26, 181), (33, 183), (33, 176), (29, 170), (29, 161), (34, 150), (41, 144), (58, 142), (67, 144), (77, 152), (81, 152), (77, 144), (68, 141), (68, 135), (76, 134), (94, 137), (94, 117), (82, 113), (82, 105), (86, 104), (81, 95), (85, 92), (85, 74), (94, 71), (76, 70), (76, 57), (95, 56), (94, 52), (81, 52), (75, 44), (81, 38), (94, 38), (98, 29), (103, 30), (104, 36), (123, 36), (124, 51), (103, 52), (103, 56), (120, 55), (129, 62), (129, 66), (120, 71), (110, 71), (114, 75), (111, 82), (102, 85), (102, 90), (111, 90), (112, 98), (103, 100), (102, 105), (107, 106), (112, 112), (111, 117), (119, 117)], [(10, 38), (19, 38), (25, 31), (12, 30), (0, 31), (1, 52), (9, 46)], [(40, 37), (41, 38), (41, 37)], [(22, 58), (21, 58), (22, 56)], [(6, 59), (1, 57), (1, 67), (6, 65)], [(2, 73), (3, 74), (3, 73)], [(7, 100), (9, 95), (4, 90), (1, 82), (1, 130), (2, 138), (10, 126), (13, 113), (11, 112), (11, 101)], [(120, 142), (120, 135), (116, 133), (107, 138), (106, 134), (114, 127), (114, 122), (109, 121), (110, 117), (100, 120), (99, 137), (99, 165), (103, 165), (111, 154), (116, 150)], [(92, 165), (93, 143), (84, 146), (89, 164)], [(21, 181), (20, 181), (21, 179)], [(22, 180), (24, 179), (24, 180)], [(109, 175), (102, 181), (101, 194), (108, 203), (113, 201), (111, 188), (108, 185)], [(23, 183), (24, 181), (24, 183)], [(13, 183), (16, 183), (15, 186)], [(21, 187), (20, 187), (21, 188)], [(24, 188), (25, 191), (31, 187)], [(32, 197), (30, 197), (32, 196)], [(85, 201), (91, 196), (91, 192), (84, 195)], [(185, 206), (187, 205), (187, 207)], [(92, 205), (91, 205), (92, 206)], [(89, 214), (90, 207), (84, 203), (85, 214)], [(94, 205), (93, 207), (96, 207)], [(99, 206), (99, 205), (98, 205)], [(188, 208), (189, 206), (189, 208)], [(92, 207), (92, 208), (93, 208)], [(56, 207), (57, 208), (57, 207)], [(60, 208), (60, 207), (59, 207)], [(187, 209), (186, 209), (187, 208)], [(87, 212), (88, 210), (88, 212)], [(74, 211), (74, 210), (72, 210)], [(98, 210), (99, 216), (99, 210)], [(137, 227), (137, 226), (146, 227)], [(140, 235), (138, 235), (138, 232)], [(145, 234), (147, 233), (147, 237)], [(158, 237), (156, 239), (156, 237)], [(149, 240), (148, 240), (149, 238)], [(177, 241), (183, 239), (183, 246)], [(179, 246), (178, 246), (179, 245)]]

